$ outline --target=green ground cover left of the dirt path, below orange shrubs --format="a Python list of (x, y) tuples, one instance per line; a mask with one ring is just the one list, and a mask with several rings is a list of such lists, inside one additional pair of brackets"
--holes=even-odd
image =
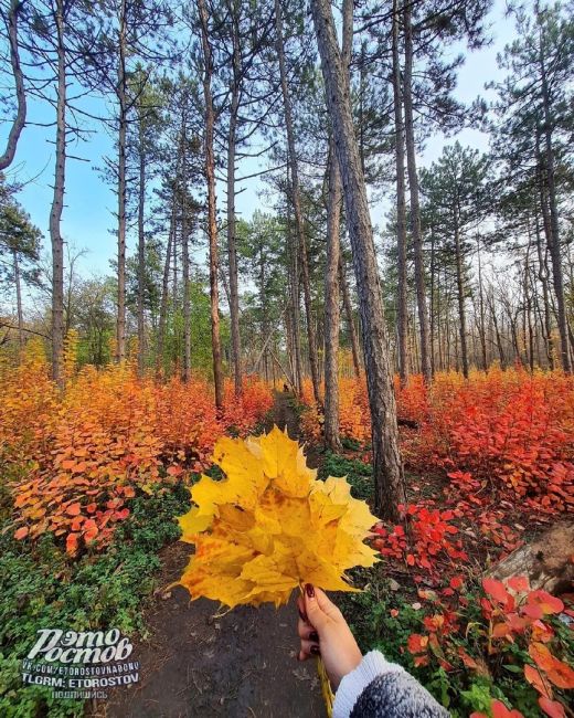
[[(4, 494), (4, 499), (7, 495)], [(182, 486), (159, 487), (130, 503), (106, 551), (71, 560), (45, 535), (15, 541), (9, 504), (0, 527), (0, 716), (82, 716), (79, 700), (54, 700), (52, 689), (23, 686), (21, 663), (40, 629), (109, 630), (146, 634), (142, 606), (157, 588), (158, 551), (178, 539), (174, 516), (189, 509)], [(4, 532), (2, 534), (2, 529)]]

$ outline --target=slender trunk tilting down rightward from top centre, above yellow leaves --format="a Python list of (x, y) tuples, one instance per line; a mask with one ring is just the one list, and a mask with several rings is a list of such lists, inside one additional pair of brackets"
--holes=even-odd
[(295, 134), (293, 128), (291, 102), (289, 88), (287, 86), (287, 71), (285, 67), (285, 46), (283, 40), (283, 18), (279, 0), (275, 0), (275, 21), (277, 32), (277, 56), (279, 59), (279, 74), (281, 81), (283, 105), (285, 113), (285, 129), (287, 133), (287, 162), (291, 173), (291, 202), (295, 213), (295, 230), (299, 244), (299, 255), (301, 258), (301, 279), (305, 303), (305, 317), (307, 324), (307, 341), (309, 344), (309, 365), (311, 370), (311, 382), (315, 401), (320, 404), (321, 397), (319, 392), (319, 361), (317, 358), (317, 338), (315, 336), (315, 326), (312, 320), (311, 306), (311, 286), (309, 279), (309, 261), (307, 256), (307, 240), (305, 236), (305, 226), (302, 219), (300, 192), (299, 192), (299, 172), (297, 154), (295, 150)]

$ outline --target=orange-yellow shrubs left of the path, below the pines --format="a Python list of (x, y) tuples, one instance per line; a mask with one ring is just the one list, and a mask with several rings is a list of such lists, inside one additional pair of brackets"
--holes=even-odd
[(33, 342), (20, 367), (1, 371), (0, 464), (15, 537), (52, 531), (72, 555), (105, 545), (130, 498), (201, 471), (217, 437), (251, 431), (273, 404), (255, 378), (238, 400), (226, 387), (220, 416), (201, 379), (140, 381), (129, 363), (73, 376), (71, 360), (66, 373), (61, 393)]

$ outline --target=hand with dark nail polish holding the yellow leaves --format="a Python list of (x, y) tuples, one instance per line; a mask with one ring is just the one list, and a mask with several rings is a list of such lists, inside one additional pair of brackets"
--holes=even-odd
[(351, 629), (339, 609), (321, 589), (310, 583), (297, 599), (299, 621), (297, 633), (301, 640), (298, 659), (321, 656), (333, 690), (343, 676), (357, 668), (362, 655)]

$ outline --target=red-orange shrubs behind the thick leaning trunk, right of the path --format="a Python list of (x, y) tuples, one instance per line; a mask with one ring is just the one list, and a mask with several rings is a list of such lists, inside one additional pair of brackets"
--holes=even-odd
[[(468, 380), (438, 373), (429, 388), (422, 377), (400, 387), (398, 415), (418, 429), (402, 432), (405, 463), (421, 471), (469, 472), (493, 488), (510, 489), (533, 508), (566, 510), (574, 486), (574, 377), (523, 369), (474, 371)], [(304, 430), (318, 439), (321, 422), (310, 387)], [(343, 436), (370, 436), (366, 386), (340, 380)]]

